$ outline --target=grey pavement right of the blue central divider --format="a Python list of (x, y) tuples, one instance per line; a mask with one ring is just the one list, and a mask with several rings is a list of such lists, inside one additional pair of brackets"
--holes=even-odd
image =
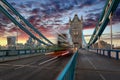
[(120, 60), (79, 50), (75, 80), (120, 80)]

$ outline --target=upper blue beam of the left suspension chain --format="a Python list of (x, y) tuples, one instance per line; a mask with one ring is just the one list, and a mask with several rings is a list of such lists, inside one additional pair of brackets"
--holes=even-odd
[(50, 40), (48, 40), (40, 31), (38, 31), (30, 22), (28, 22), (18, 11), (16, 11), (6, 0), (1, 0), (6, 6), (8, 6), (15, 15), (17, 15), (25, 24), (33, 29), (39, 36), (43, 37), (48, 43), (54, 45)]

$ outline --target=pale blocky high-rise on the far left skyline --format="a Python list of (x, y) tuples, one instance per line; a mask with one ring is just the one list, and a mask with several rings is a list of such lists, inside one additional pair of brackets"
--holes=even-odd
[(16, 46), (16, 37), (15, 36), (7, 37), (7, 46), (8, 46), (8, 49), (15, 49), (15, 46)]

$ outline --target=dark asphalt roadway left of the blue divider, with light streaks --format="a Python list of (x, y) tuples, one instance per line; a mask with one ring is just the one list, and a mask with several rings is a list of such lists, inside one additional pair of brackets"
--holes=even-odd
[(0, 80), (55, 80), (71, 56), (34, 56), (0, 63)]

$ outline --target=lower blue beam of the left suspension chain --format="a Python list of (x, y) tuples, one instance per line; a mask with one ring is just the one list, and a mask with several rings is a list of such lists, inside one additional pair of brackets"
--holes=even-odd
[(8, 13), (1, 5), (0, 5), (0, 11), (3, 12), (15, 25), (18, 25), (18, 27), (23, 30), (25, 33), (27, 33), (28, 35), (30, 35), (33, 39), (37, 40), (38, 42), (47, 45), (45, 42), (39, 40), (36, 36), (34, 36), (29, 30), (27, 30), (25, 27), (22, 26), (22, 24), (20, 24), (19, 22), (17, 22), (15, 20), (15, 18), (13, 16), (10, 15), (10, 13)]

